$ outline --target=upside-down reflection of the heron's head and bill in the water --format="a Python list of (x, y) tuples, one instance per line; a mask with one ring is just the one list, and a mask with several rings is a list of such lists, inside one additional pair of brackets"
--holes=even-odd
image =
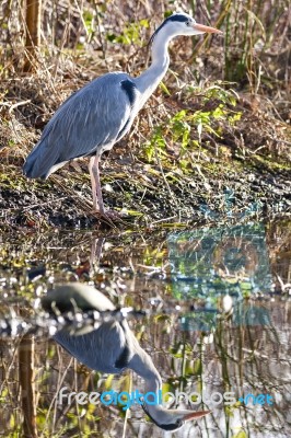
[(171, 431), (179, 429), (187, 422), (201, 418), (210, 413), (210, 411), (166, 410), (160, 405), (148, 404), (143, 404), (142, 407), (156, 426)]

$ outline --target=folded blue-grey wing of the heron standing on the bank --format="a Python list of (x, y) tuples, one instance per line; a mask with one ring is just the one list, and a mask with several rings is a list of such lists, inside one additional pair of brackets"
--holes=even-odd
[(126, 73), (108, 73), (71, 95), (45, 127), (24, 173), (46, 177), (54, 165), (102, 152), (119, 139), (132, 111), (125, 81), (131, 81)]

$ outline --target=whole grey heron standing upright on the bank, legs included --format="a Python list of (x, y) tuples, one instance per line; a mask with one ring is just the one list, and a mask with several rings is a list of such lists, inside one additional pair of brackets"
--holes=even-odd
[(90, 157), (93, 209), (108, 216), (100, 182), (102, 153), (110, 150), (129, 131), (138, 112), (163, 79), (170, 64), (167, 47), (171, 39), (205, 33), (222, 32), (196, 23), (184, 12), (164, 20), (150, 39), (151, 66), (137, 78), (119, 71), (106, 73), (67, 99), (26, 158), (23, 173), (31, 178), (47, 178), (68, 161)]

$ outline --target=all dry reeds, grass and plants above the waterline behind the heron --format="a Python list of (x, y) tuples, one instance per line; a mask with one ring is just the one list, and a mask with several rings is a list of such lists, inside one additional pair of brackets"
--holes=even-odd
[[(229, 215), (230, 193), (236, 217), (288, 210), (287, 0), (28, 3), (35, 21), (15, 0), (0, 9), (0, 217), (8, 226), (96, 220), (85, 160), (45, 183), (22, 176), (23, 160), (74, 90), (106, 71), (139, 74), (151, 33), (176, 9), (224, 37), (173, 43), (164, 82), (103, 160), (105, 203), (147, 226), (217, 220)], [(37, 30), (31, 35), (33, 22), (40, 39)]]

